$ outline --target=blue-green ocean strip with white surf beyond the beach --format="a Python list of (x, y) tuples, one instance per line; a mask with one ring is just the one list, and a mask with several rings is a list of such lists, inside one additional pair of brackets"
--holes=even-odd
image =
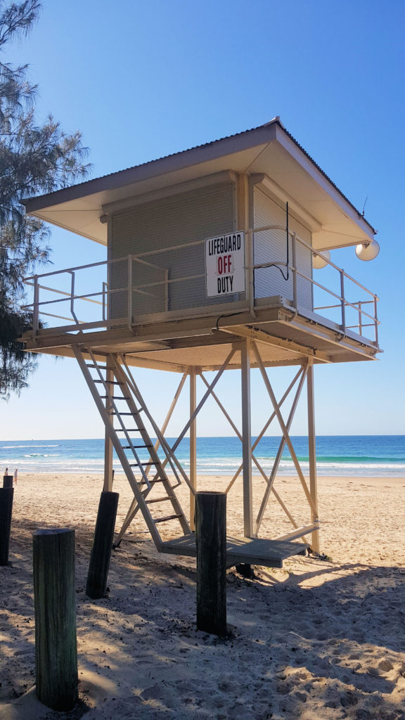
[[(173, 444), (176, 438), (166, 438)], [(252, 442), (255, 438), (252, 438)], [(308, 440), (291, 438), (304, 474), (308, 473)], [(280, 438), (264, 437), (254, 451), (264, 470), (270, 473)], [(177, 449), (184, 469), (190, 467), (189, 440)], [(14, 440), (0, 441), (0, 472), (18, 468), (24, 472), (104, 472), (104, 440)], [(405, 477), (404, 435), (319, 436), (316, 438), (319, 475), (359, 477)], [(143, 456), (142, 456), (143, 457)], [(147, 459), (146, 454), (144, 458)], [(197, 438), (197, 472), (232, 476), (241, 464), (241, 442), (236, 437)], [(114, 467), (122, 472), (115, 457)], [(254, 472), (257, 473), (256, 468)], [(288, 449), (280, 462), (279, 474), (293, 475), (295, 468)]]

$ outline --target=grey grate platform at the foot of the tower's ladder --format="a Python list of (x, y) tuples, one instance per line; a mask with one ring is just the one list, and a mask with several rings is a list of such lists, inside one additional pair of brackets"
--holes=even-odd
[[(308, 545), (282, 540), (266, 540), (261, 538), (226, 538), (227, 567), (244, 563), (264, 565), (264, 567), (282, 567), (282, 561), (293, 555), (303, 555)], [(171, 555), (187, 555), (196, 557), (195, 535), (184, 535), (181, 538), (163, 543), (161, 552)]]

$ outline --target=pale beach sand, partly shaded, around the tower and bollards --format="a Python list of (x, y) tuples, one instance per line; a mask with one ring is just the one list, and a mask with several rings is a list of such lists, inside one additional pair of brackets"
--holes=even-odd
[[(200, 478), (199, 489), (224, 490), (228, 481)], [(262, 488), (257, 478), (254, 485)], [(308, 523), (298, 479), (278, 477), (275, 487)], [(114, 489), (118, 527), (131, 494), (120, 475)], [(257, 568), (254, 580), (228, 571), (227, 639), (196, 629), (195, 560), (157, 554), (138, 516), (131, 542), (112, 553), (106, 597), (86, 598), (101, 490), (92, 474), (19, 478), (11, 564), (0, 567), (0, 720), (76, 718), (84, 709), (86, 720), (405, 718), (404, 478), (319, 478), (327, 558)], [(241, 534), (241, 518), (238, 481), (228, 534)], [(76, 529), (82, 704), (66, 715), (45, 708), (33, 688), (32, 531), (55, 526)], [(272, 500), (261, 536), (290, 529)]]

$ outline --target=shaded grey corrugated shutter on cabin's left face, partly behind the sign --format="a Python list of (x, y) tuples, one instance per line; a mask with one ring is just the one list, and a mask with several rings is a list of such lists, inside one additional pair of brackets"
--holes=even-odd
[[(136, 205), (112, 216), (112, 258), (162, 249), (161, 253), (143, 257), (148, 263), (159, 266), (158, 269), (133, 262), (135, 287), (161, 282), (165, 269), (169, 271), (170, 280), (203, 275), (199, 279), (169, 284), (169, 310), (237, 300), (239, 296), (205, 297), (205, 246), (204, 243), (189, 246), (196, 240), (231, 233), (235, 229), (235, 216), (235, 186), (231, 181)], [(182, 247), (164, 251), (172, 246)], [(126, 264), (118, 263), (117, 267), (112, 267), (112, 287), (125, 287)], [(143, 294), (145, 292), (149, 294)], [(112, 317), (126, 315), (126, 303), (123, 293), (113, 296)], [(133, 312), (136, 315), (161, 312), (165, 309), (164, 304), (163, 284), (143, 287), (142, 292), (134, 293)]]

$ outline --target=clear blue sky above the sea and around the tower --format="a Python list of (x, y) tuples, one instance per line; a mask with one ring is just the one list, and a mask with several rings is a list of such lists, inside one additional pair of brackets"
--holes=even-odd
[[(404, 32), (399, 0), (45, 0), (30, 37), (6, 58), (30, 63), (39, 120), (51, 112), (66, 131), (81, 130), (94, 177), (280, 115), (356, 207), (367, 198), (380, 255), (362, 263), (350, 248), (332, 259), (378, 293), (384, 354), (316, 368), (319, 434), (405, 431)], [(104, 259), (103, 248), (62, 230), (51, 242), (55, 269)], [(290, 372), (274, 375), (280, 396)], [(177, 382), (141, 372), (158, 418)], [(230, 372), (218, 390), (235, 413), (236, 383)], [(255, 374), (253, 386), (256, 433), (265, 412)], [(29, 390), (2, 411), (6, 439), (102, 436), (74, 361), (43, 359)], [(172, 433), (181, 426), (175, 418)], [(211, 406), (198, 432), (228, 434), (226, 420)], [(293, 432), (306, 433), (303, 412)]]

